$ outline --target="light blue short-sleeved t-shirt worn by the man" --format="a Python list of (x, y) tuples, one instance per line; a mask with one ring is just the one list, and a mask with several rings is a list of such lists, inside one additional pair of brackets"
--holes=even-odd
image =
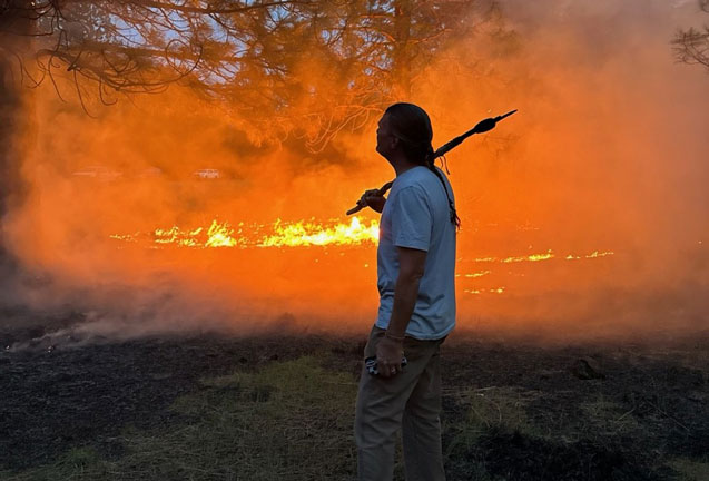
[[(443, 176), (451, 199), (453, 189)], [(397, 176), (384, 204), (377, 248), (380, 311), (377, 327), (386, 328), (398, 277), (396, 247), (426, 251), (424, 274), (406, 335), (437, 340), (455, 326), (455, 225), (441, 179), (426, 167)]]

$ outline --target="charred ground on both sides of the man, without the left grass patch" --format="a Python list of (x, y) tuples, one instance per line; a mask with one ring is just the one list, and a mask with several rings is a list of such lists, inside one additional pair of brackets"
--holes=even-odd
[[(328, 369), (334, 359), (354, 380), (364, 338), (201, 334), (82, 344), (45, 334), (41, 326), (0, 330), (9, 346), (0, 352), (3, 469), (51, 462), (85, 445), (120, 457), (121, 431), (183, 421), (168, 406), (203, 389), (204, 377), (327, 353)], [(574, 376), (582, 357), (595, 360), (604, 377)], [(480, 472), (491, 480), (671, 480), (671, 460), (709, 461), (706, 336), (662, 346), (541, 346), (453, 335), (442, 350), (442, 371), (451, 480)], [(460, 442), (476, 392), (498, 402), (500, 415)], [(506, 420), (505, 400), (492, 394), (505, 392), (519, 393), (512, 405), (525, 429), (496, 421)]]

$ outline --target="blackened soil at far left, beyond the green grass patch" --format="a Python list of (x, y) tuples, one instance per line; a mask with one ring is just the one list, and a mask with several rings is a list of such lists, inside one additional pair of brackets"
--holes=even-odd
[(175, 421), (168, 406), (198, 390), (199, 379), (296, 359), (322, 341), (199, 335), (80, 347), (29, 344), (0, 353), (0, 467), (11, 470), (87, 444), (118, 457), (121, 430)]

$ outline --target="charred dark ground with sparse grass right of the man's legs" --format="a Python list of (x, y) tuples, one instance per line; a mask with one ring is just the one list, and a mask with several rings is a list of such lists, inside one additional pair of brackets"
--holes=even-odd
[[(670, 460), (709, 462), (708, 341), (447, 345), (444, 421), (456, 425), (469, 416), (471, 403), (460, 395), (467, 386), (488, 397), (491, 390), (521, 393), (518, 406), (526, 428), (533, 426), (530, 433), (495, 420), (481, 425), (473, 445), (450, 453), (449, 478), (470, 479), (466, 469), (479, 465), (494, 480), (678, 479)], [(573, 374), (575, 362), (587, 356), (601, 366), (602, 379)], [(500, 399), (489, 402), (500, 409), (500, 420), (509, 415)], [(444, 445), (456, 435), (457, 430), (444, 433)]]

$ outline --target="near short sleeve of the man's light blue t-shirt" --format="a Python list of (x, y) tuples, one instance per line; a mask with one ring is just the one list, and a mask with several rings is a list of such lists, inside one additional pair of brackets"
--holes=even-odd
[(405, 187), (392, 207), (393, 244), (429, 252), (433, 216), (425, 193), (418, 187)]

